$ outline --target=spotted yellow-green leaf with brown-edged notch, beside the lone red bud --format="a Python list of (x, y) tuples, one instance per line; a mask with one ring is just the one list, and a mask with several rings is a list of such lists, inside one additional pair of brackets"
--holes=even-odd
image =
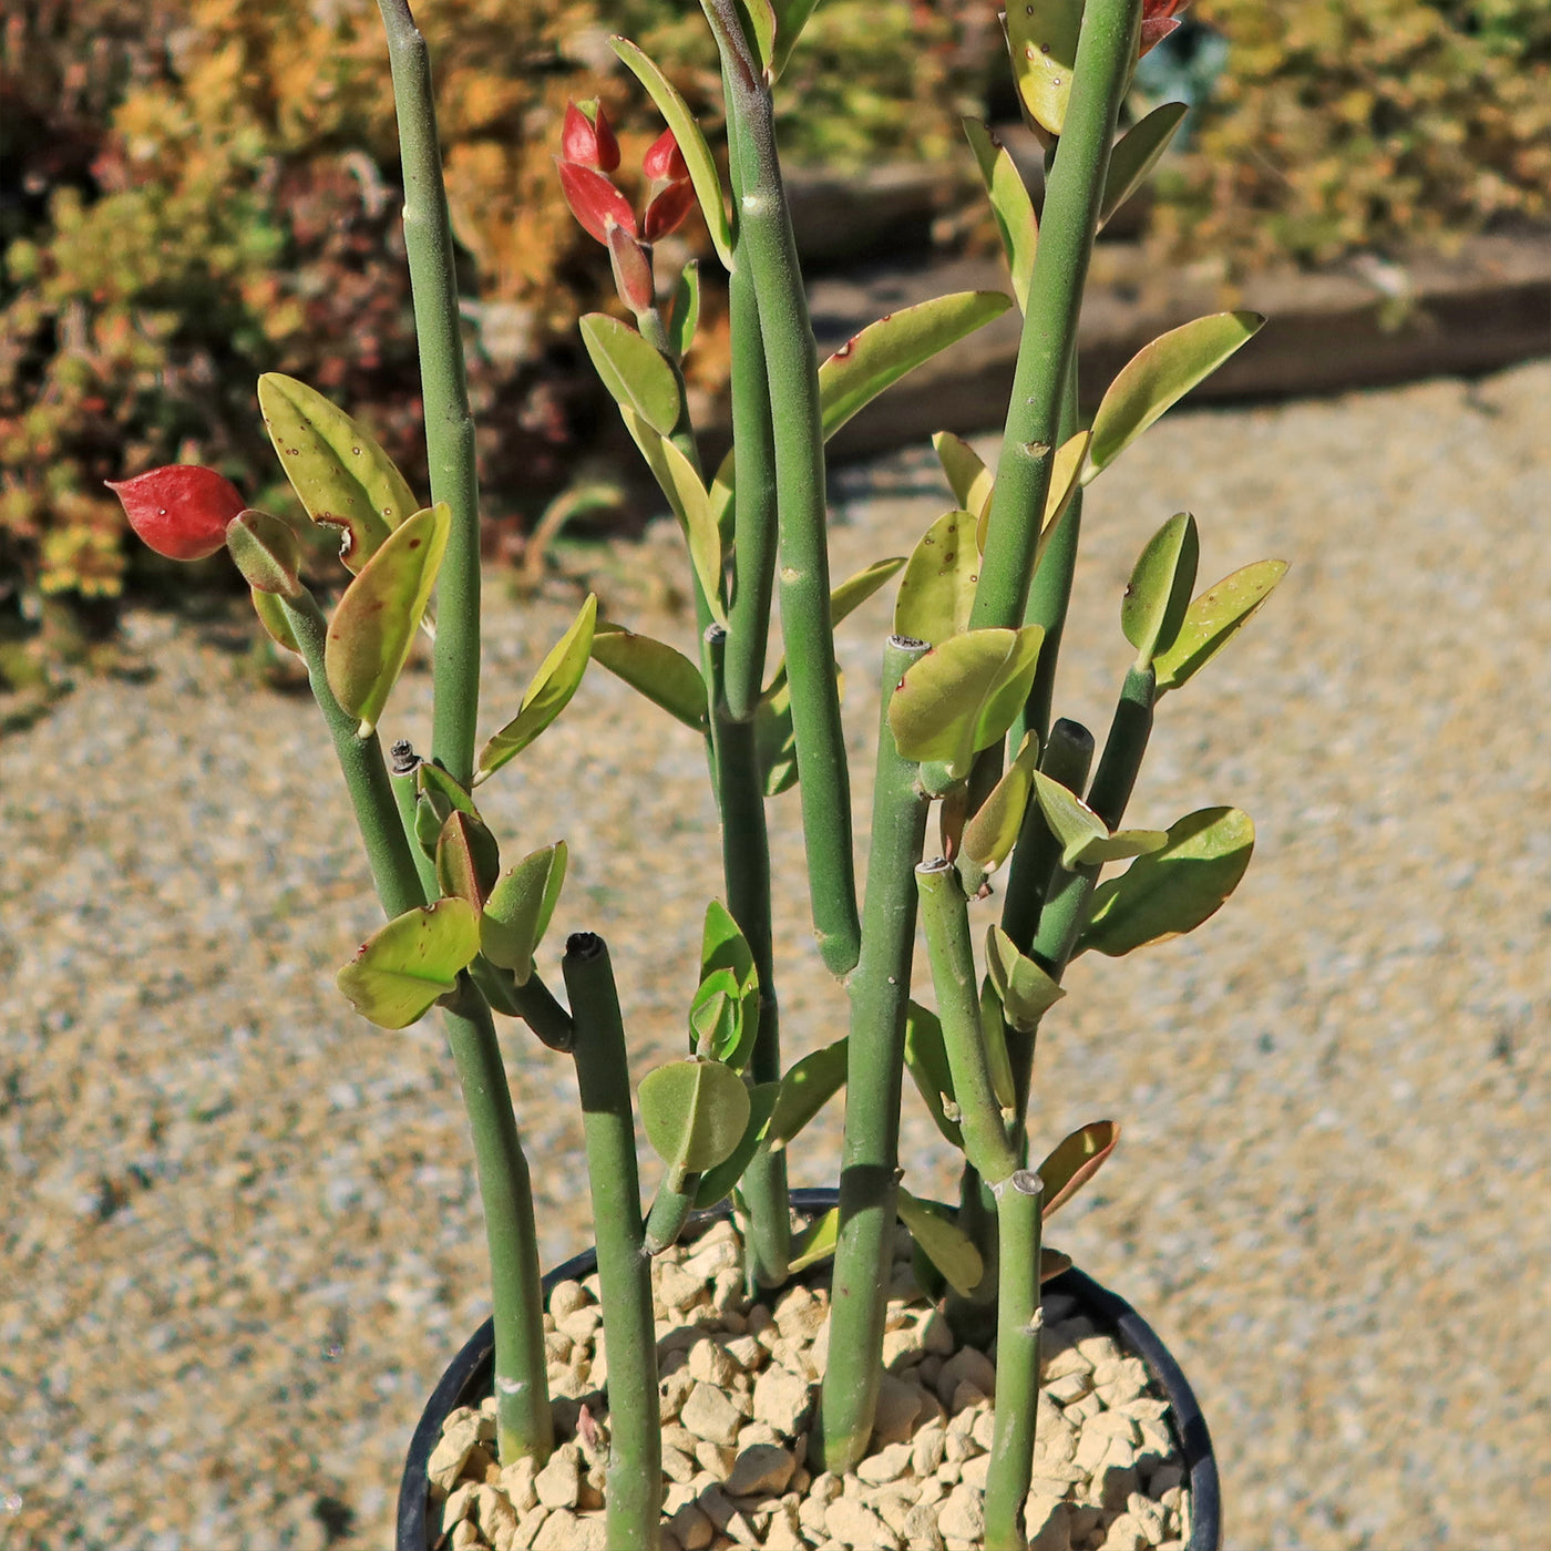
[(341, 529), (340, 555), (360, 571), (420, 506), (377, 439), (321, 392), (265, 372), (259, 409), (296, 498), (318, 524)]

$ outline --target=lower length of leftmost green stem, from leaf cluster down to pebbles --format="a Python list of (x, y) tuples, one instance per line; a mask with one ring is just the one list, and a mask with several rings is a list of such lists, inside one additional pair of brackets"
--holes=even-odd
[(495, 1021), (467, 977), (442, 1005), (442, 1027), (464, 1090), (490, 1253), (496, 1441), (504, 1464), (527, 1455), (543, 1464), (554, 1449), (555, 1432), (546, 1377), (534, 1188)]

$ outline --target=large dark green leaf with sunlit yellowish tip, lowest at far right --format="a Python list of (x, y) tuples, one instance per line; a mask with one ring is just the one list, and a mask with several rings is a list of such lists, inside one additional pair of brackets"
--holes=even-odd
[(1193, 932), (1239, 886), (1255, 825), (1238, 808), (1202, 808), (1169, 825), (1166, 844), (1093, 890), (1076, 951), (1118, 959), (1146, 943)]

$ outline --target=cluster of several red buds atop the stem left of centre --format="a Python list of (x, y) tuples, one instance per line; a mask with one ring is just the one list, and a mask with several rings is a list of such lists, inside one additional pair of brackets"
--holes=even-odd
[(619, 166), (619, 141), (602, 104), (572, 102), (566, 109), (555, 163), (571, 214), (608, 248), (620, 299), (631, 312), (645, 312), (655, 302), (651, 244), (679, 226), (695, 205), (673, 130), (662, 130), (641, 161), (653, 194), (639, 225), (630, 200), (610, 177)]

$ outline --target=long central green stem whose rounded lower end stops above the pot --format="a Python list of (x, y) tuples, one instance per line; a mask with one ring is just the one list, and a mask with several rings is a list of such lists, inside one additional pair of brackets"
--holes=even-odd
[(861, 954), (850, 774), (834, 681), (830, 555), (824, 485), (819, 354), (797, 264), (769, 87), (743, 39), (734, 0), (704, 0), (737, 124), (738, 264), (748, 265), (765, 346), (776, 453), (779, 589), (793, 734), (800, 772), (802, 830), (819, 952), (848, 974)]

